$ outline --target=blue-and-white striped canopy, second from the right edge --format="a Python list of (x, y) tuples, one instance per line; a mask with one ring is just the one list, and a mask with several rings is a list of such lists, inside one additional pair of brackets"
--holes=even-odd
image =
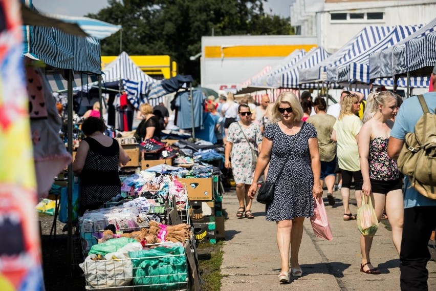
[(369, 47), (362, 54), (357, 55), (353, 59), (348, 60), (346, 63), (339, 66), (336, 69), (336, 76), (332, 76), (331, 80), (335, 79), (338, 83), (354, 83), (355, 81), (358, 81), (369, 84), (369, 55), (373, 52), (381, 51), (397, 44), (407, 36), (418, 31), (421, 27), (422, 25), (395, 26), (374, 46)]

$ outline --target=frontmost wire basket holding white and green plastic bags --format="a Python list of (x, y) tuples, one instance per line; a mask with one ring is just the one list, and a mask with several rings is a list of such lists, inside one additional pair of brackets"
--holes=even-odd
[(86, 289), (188, 290), (189, 273), (184, 246), (181, 243), (153, 246), (152, 249), (129, 252), (129, 257), (108, 254), (103, 260), (87, 258), (81, 265)]

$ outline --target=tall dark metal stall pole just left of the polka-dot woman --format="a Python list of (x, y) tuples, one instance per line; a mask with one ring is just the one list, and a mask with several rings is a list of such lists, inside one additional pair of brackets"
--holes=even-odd
[[(68, 70), (68, 152), (73, 155), (73, 70)], [(67, 276), (68, 276), (68, 284), (67, 289), (71, 288), (71, 283), (73, 279), (72, 274), (72, 257), (73, 257), (73, 163), (68, 165), (68, 243), (67, 243)]]

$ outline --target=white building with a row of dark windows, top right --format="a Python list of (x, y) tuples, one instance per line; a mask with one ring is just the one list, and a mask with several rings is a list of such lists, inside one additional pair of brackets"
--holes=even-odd
[(436, 17), (436, 0), (290, 0), (291, 25), (316, 36), (329, 53), (368, 25), (426, 24)]

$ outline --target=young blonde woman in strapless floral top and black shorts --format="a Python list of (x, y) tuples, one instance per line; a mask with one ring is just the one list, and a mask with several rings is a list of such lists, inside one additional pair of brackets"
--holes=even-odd
[[(363, 177), (362, 193), (370, 196), (377, 219), (380, 222), (386, 205), (386, 213), (392, 227), (392, 239), (400, 253), (403, 231), (403, 192), (397, 162), (387, 155), (387, 142), (397, 108), (397, 97), (394, 93), (383, 91), (367, 100), (367, 110), (374, 115), (359, 133), (360, 168)], [(358, 207), (362, 201), (357, 201)], [(362, 263), (360, 271), (377, 275), (380, 271), (370, 263), (369, 251), (373, 237), (361, 236), (360, 250)]]

